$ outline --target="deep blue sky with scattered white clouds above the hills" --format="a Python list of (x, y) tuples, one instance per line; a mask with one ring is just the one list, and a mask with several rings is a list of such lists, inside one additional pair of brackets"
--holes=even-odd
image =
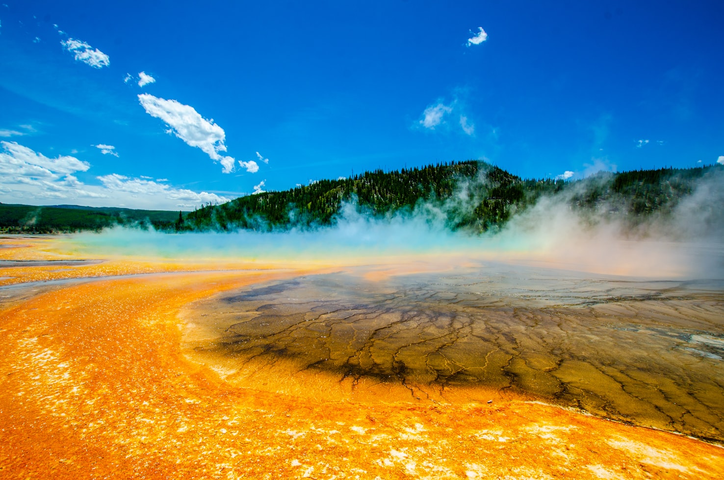
[(720, 1), (0, 3), (3, 203), (724, 162)]

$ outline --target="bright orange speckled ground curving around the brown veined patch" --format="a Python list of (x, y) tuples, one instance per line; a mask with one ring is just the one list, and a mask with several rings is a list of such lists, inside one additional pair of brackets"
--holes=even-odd
[[(30, 246), (0, 248), (1, 258), (50, 255), (47, 240), (12, 242)], [(720, 447), (523, 399), (323, 402), (230, 387), (184, 358), (178, 311), (300, 271), (169, 270), (3, 304), (1, 479), (724, 478)], [(0, 283), (47, 271), (2, 269)], [(144, 271), (164, 265), (114, 261), (56, 275)]]

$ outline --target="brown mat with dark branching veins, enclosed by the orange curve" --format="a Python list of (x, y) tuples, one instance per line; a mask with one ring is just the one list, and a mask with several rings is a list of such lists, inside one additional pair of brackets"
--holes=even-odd
[(183, 313), (185, 347), (230, 381), (303, 373), (423, 402), (482, 387), (724, 440), (721, 281), (502, 264), (373, 277), (348, 269), (217, 295)]

